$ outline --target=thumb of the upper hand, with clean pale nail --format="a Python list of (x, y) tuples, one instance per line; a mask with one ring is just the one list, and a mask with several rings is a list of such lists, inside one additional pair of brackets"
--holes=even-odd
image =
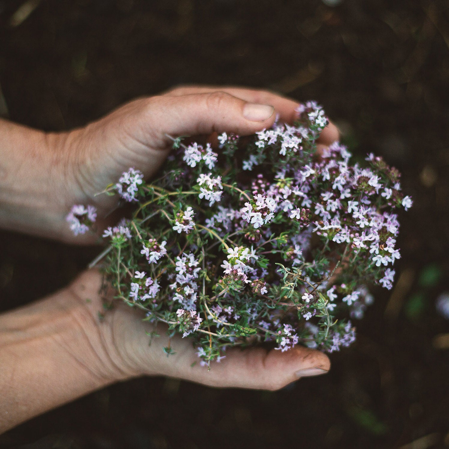
[(248, 102), (226, 92), (158, 96), (149, 99), (145, 114), (149, 131), (174, 136), (233, 132), (248, 135), (272, 126), (274, 107)]

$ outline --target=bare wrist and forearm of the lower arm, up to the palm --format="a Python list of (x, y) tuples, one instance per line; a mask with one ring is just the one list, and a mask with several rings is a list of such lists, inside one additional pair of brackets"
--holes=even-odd
[[(99, 276), (98, 276), (99, 277)], [(78, 283), (97, 304), (96, 284)], [(138, 375), (123, 363), (77, 289), (0, 316), (0, 433), (111, 383)], [(96, 310), (97, 312), (97, 310)]]

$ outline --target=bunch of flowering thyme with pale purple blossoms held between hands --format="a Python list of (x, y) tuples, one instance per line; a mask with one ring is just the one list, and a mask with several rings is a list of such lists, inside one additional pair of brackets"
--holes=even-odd
[[(294, 125), (223, 133), (215, 146), (175, 139), (153, 184), (123, 173), (106, 191), (137, 207), (103, 234), (117, 298), (191, 338), (206, 365), (234, 345), (350, 345), (348, 318), (373, 302), (368, 285), (392, 288), (397, 213), (412, 200), (382, 158), (352, 164), (339, 142), (318, 152), (327, 123), (307, 102)], [(69, 221), (80, 233), (95, 217), (76, 208)]]

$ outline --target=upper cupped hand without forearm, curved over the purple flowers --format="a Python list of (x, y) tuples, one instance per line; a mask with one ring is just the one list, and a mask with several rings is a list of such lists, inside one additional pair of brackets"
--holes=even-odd
[[(134, 100), (84, 128), (50, 136), (62, 149), (64, 189), (63, 213), (73, 204), (93, 204), (102, 218), (116, 205), (116, 198), (96, 196), (118, 181), (129, 167), (141, 170), (145, 178), (157, 173), (169, 154), (172, 141), (167, 137), (233, 132), (248, 135), (270, 127), (276, 115), (292, 123), (299, 103), (262, 90), (235, 87), (192, 86)], [(318, 140), (328, 146), (338, 139), (335, 125), (329, 124)], [(76, 239), (62, 221), (60, 238), (74, 243), (92, 243), (95, 236)]]

